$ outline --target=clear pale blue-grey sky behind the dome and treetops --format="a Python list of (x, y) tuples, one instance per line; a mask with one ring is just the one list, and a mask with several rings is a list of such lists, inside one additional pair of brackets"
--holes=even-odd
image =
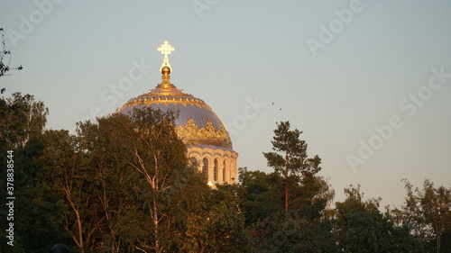
[[(343, 201), (362, 185), (403, 203), (401, 178), (451, 184), (450, 1), (0, 0), (6, 96), (32, 94), (48, 128), (114, 113), (171, 81), (226, 123), (239, 167), (266, 172), (276, 122), (303, 131)], [(253, 110), (256, 108), (257, 110)]]

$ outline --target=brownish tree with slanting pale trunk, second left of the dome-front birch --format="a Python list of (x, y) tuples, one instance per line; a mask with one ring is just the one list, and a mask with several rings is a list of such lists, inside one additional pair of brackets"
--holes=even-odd
[[(99, 204), (93, 194), (92, 167), (87, 166), (84, 153), (79, 149), (78, 137), (69, 131), (45, 131), (44, 149), (39, 158), (40, 180), (34, 190), (41, 189), (42, 198), (53, 193), (60, 196), (62, 229), (77, 245), (79, 252), (91, 251), (97, 244), (97, 230), (102, 223), (98, 216)], [(47, 203), (49, 204), (49, 203)], [(41, 206), (45, 208), (45, 206)]]

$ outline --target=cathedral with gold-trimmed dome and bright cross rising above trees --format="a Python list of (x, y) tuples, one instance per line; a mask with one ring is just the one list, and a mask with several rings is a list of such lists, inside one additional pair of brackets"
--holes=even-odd
[(205, 174), (208, 185), (234, 184), (238, 153), (224, 123), (202, 99), (185, 94), (170, 83), (168, 55), (174, 50), (164, 41), (158, 50), (164, 56), (161, 83), (148, 93), (130, 99), (119, 113), (131, 113), (133, 108), (150, 106), (152, 109), (176, 110), (177, 135), (188, 149), (189, 162)]

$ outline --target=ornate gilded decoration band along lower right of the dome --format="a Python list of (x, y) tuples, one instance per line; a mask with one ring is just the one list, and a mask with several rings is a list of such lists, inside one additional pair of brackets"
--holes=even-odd
[(230, 136), (226, 131), (226, 128), (221, 124), (221, 129), (216, 130), (212, 122), (207, 121), (207, 126), (199, 128), (194, 120), (189, 119), (187, 124), (182, 127), (178, 126), (176, 128), (177, 135), (179, 138), (186, 139), (206, 139), (206, 140), (220, 140), (226, 143), (232, 144)]

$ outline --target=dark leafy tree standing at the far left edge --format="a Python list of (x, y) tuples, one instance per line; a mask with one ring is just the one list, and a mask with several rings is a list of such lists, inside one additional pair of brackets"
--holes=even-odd
[[(31, 188), (36, 182), (32, 176), (38, 167), (33, 165), (29, 157), (39, 153), (41, 146), (39, 141), (32, 141), (34, 136), (41, 134), (46, 123), (48, 109), (41, 101), (34, 100), (32, 95), (21, 95), (14, 93), (10, 98), (0, 98), (0, 166), (6, 167), (6, 151), (14, 152), (14, 248), (6, 244), (5, 228), (9, 222), (6, 217), (5, 199), (0, 207), (0, 252), (39, 252), (33, 251), (35, 248), (27, 248), (28, 241), (36, 241), (45, 244), (45, 241), (39, 239), (29, 239), (32, 232), (38, 232), (43, 238), (50, 239), (54, 228), (51, 222), (35, 221), (32, 219), (36, 215), (36, 207), (32, 206), (30, 198), (26, 197), (28, 188)], [(25, 148), (26, 145), (29, 147)], [(0, 173), (0, 195), (6, 195), (6, 169)], [(33, 181), (33, 182), (32, 182)], [(20, 207), (20, 208), (18, 208)], [(41, 212), (41, 216), (46, 215)], [(17, 217), (20, 217), (18, 219)], [(59, 237), (52, 235), (53, 238)], [(49, 241), (49, 240), (47, 240)]]

